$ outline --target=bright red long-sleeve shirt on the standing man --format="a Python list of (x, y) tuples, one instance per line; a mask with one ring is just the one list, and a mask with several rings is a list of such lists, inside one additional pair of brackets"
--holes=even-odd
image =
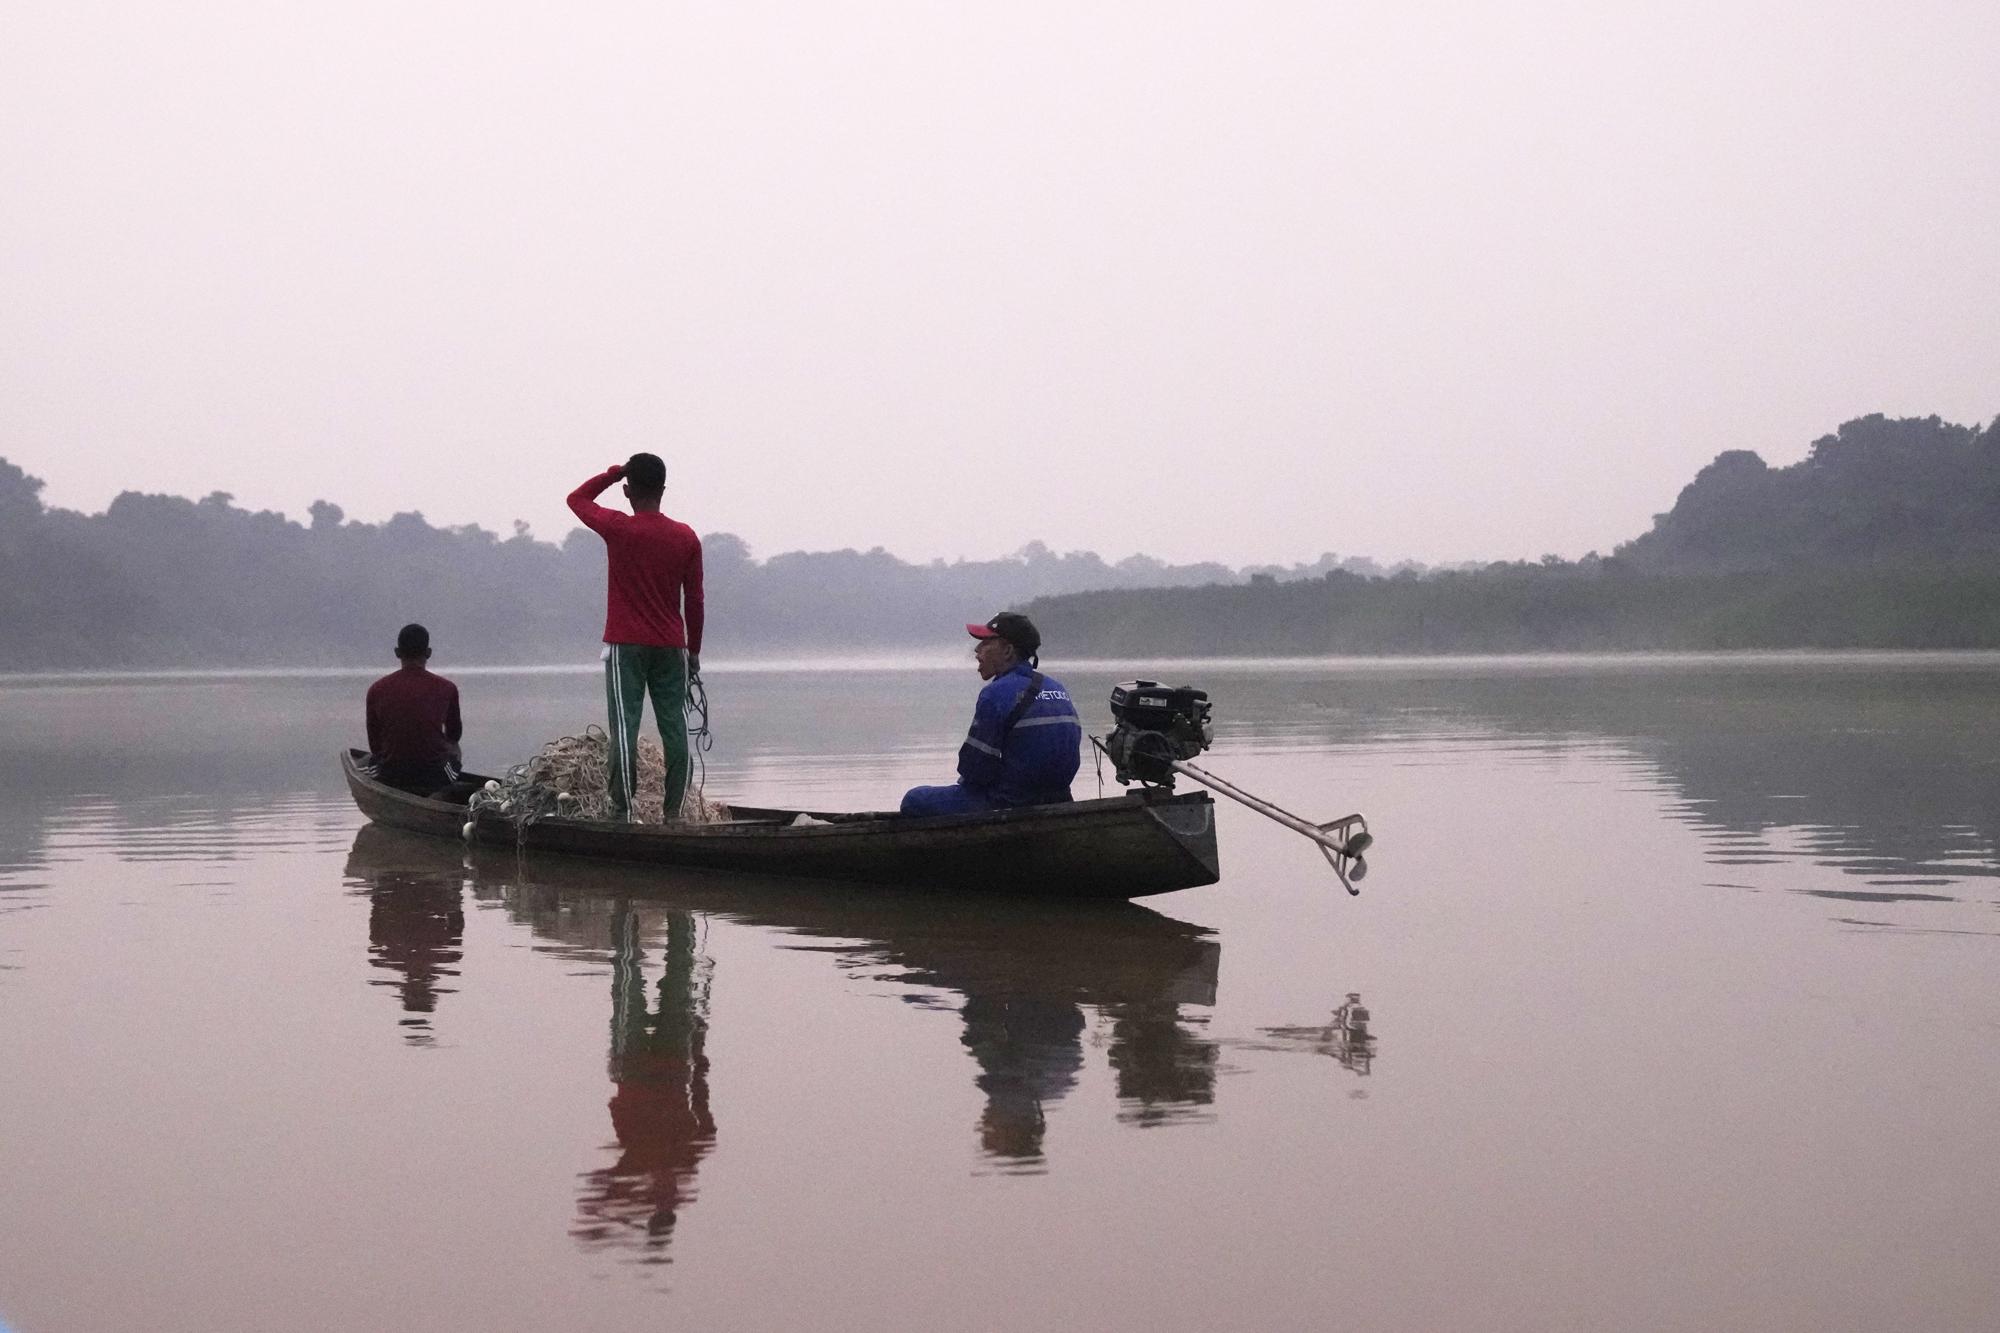
[(618, 480), (598, 472), (570, 492), (570, 512), (604, 538), (604, 642), (702, 650), (702, 538), (666, 514), (620, 514), (596, 498)]

